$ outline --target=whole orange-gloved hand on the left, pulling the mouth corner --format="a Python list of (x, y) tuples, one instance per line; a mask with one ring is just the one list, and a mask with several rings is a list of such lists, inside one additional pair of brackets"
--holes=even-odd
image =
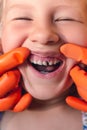
[(20, 47), (0, 56), (0, 111), (23, 111), (31, 103), (29, 93), (22, 95), (21, 74), (16, 69), (29, 53), (27, 48)]

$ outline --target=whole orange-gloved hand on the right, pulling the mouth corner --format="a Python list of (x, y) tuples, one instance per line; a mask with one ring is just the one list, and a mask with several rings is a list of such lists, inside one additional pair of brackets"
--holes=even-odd
[[(87, 48), (74, 44), (65, 44), (60, 48), (60, 51), (66, 57), (75, 59), (78, 64), (83, 63), (87, 65)], [(66, 102), (75, 109), (87, 112), (87, 72), (78, 65), (75, 65), (70, 71), (70, 76), (76, 84), (81, 98), (68, 96)]]

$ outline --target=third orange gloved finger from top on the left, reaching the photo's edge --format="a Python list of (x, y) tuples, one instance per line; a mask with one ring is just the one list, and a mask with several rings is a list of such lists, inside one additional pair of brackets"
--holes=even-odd
[(15, 91), (11, 92), (5, 98), (0, 99), (0, 111), (6, 111), (13, 108), (13, 106), (21, 98), (21, 88), (17, 88)]

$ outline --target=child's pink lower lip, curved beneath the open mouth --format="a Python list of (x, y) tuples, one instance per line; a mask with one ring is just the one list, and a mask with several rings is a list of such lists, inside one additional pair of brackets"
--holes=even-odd
[(64, 68), (64, 63), (54, 72), (48, 73), (48, 74), (42, 74), (39, 71), (37, 71), (36, 69), (34, 69), (34, 67), (29, 63), (29, 69), (32, 71), (33, 74), (35, 74), (36, 76), (40, 77), (40, 78), (44, 78), (44, 79), (51, 79), (54, 78), (56, 75), (58, 75), (60, 72), (62, 72), (63, 68)]

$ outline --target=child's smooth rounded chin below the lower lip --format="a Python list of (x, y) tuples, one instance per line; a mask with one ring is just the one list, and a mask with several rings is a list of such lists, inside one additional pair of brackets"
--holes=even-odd
[[(28, 78), (25, 78), (25, 79), (28, 79)], [(72, 84), (72, 81), (70, 78), (66, 80), (67, 82), (65, 82), (64, 80), (60, 82), (60, 84), (58, 82), (50, 83), (48, 82), (48, 80), (47, 81), (45, 80), (45, 83), (44, 83), (44, 80), (43, 80), (43, 83), (42, 82), (32, 83), (29, 80), (25, 80), (25, 79), (24, 79), (25, 90), (28, 93), (30, 93), (32, 97), (38, 100), (51, 100), (54, 98), (61, 97), (62, 95), (64, 95), (64, 93), (66, 94), (67, 90)]]

